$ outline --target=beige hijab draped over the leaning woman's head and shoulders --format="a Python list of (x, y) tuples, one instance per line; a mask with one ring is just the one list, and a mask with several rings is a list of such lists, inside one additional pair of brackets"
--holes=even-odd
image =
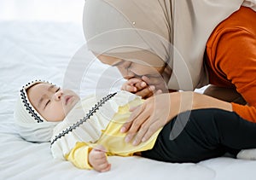
[(195, 90), (208, 83), (207, 39), (242, 4), (255, 9), (255, 0), (86, 0), (84, 36), (96, 54), (169, 66), (170, 89)]

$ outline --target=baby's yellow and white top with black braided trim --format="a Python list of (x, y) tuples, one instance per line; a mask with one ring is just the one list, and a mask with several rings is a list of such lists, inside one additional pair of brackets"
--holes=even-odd
[(147, 142), (138, 146), (125, 142), (120, 128), (130, 117), (131, 107), (143, 100), (126, 91), (109, 96), (88, 96), (79, 102), (54, 129), (51, 150), (55, 158), (69, 160), (82, 169), (92, 169), (88, 154), (96, 145), (107, 149), (108, 155), (131, 156), (154, 147), (160, 132), (156, 131)]

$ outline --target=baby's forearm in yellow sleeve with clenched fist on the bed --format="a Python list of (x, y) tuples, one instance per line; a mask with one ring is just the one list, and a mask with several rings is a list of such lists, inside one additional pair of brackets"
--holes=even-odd
[[(94, 148), (92, 148), (91, 145), (94, 146)], [(70, 153), (65, 156), (65, 159), (72, 162), (73, 165), (80, 169), (109, 171), (111, 167), (111, 165), (108, 164), (105, 148), (96, 146), (96, 144), (90, 144), (89, 146), (85, 142), (77, 142)]]

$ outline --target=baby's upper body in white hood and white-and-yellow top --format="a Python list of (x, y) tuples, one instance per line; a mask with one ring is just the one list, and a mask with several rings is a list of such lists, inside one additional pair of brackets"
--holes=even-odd
[(127, 91), (84, 99), (72, 90), (34, 81), (20, 90), (15, 120), (20, 135), (31, 142), (51, 142), (55, 158), (83, 169), (108, 171), (107, 155), (131, 156), (153, 148), (157, 131), (138, 146), (125, 142), (119, 130), (131, 107), (143, 103)]

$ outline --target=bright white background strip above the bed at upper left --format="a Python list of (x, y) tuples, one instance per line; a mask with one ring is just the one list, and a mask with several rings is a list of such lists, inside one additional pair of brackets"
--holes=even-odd
[(0, 20), (53, 20), (81, 23), (85, 0), (0, 0)]

